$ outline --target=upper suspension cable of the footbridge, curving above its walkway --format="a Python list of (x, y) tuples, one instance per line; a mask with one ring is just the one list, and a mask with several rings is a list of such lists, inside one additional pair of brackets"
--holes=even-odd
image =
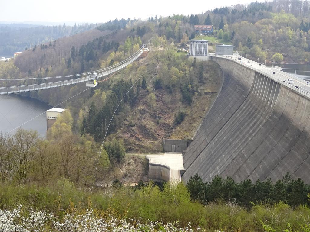
[(123, 63), (127, 62), (128, 60), (132, 59), (133, 57), (135, 57), (137, 54), (139, 54), (139, 52), (141, 50), (143, 50), (145, 48), (146, 45), (142, 45), (139, 50), (137, 50), (134, 54), (132, 54), (130, 57), (126, 58), (125, 60), (118, 62), (117, 64), (111, 65), (109, 67), (105, 67), (102, 69), (98, 69), (95, 71), (91, 71), (91, 72), (86, 72), (86, 73), (78, 73), (78, 74), (72, 74), (72, 75), (64, 75), (64, 76), (52, 76), (52, 77), (38, 77), (38, 78), (14, 78), (14, 79), (0, 79), (0, 81), (10, 81), (10, 80), (40, 80), (40, 79), (56, 79), (56, 78), (65, 78), (65, 77), (75, 77), (75, 76), (81, 76), (81, 75), (88, 75), (91, 73), (99, 73), (99, 72), (104, 72), (110, 69), (113, 69), (117, 66), (122, 65)]

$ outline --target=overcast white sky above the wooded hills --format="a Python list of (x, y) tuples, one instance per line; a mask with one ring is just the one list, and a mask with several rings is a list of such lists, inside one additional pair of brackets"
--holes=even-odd
[[(254, 0), (252, 0), (254, 1)], [(249, 4), (251, 0), (124, 1), (124, 0), (1, 0), (0, 21), (106, 22), (110, 19), (191, 15), (221, 6)]]

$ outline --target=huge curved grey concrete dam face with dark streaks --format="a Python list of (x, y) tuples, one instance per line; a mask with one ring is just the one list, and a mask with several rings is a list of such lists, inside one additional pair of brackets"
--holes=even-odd
[(182, 180), (198, 173), (272, 181), (287, 172), (310, 183), (310, 100), (232, 60), (211, 57), (224, 82), (184, 151)]

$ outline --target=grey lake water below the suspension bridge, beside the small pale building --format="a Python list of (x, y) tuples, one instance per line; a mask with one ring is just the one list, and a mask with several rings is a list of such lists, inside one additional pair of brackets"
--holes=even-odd
[[(14, 94), (0, 96), (0, 131), (9, 132), (28, 120), (30, 122), (21, 126), (23, 129), (33, 129), (39, 135), (46, 135), (46, 110), (51, 107), (41, 101), (28, 97), (20, 97)], [(11, 133), (14, 133), (12, 131)]]

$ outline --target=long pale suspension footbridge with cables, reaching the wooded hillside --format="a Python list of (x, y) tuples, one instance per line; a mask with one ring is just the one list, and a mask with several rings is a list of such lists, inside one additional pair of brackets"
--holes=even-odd
[[(126, 58), (122, 62), (119, 62), (115, 65), (99, 69), (96, 71), (88, 72), (88, 73), (80, 73), (75, 75), (66, 75), (66, 76), (55, 76), (55, 77), (46, 77), (46, 78), (40, 78), (40, 79), (55, 79), (55, 78), (73, 78), (77, 76), (84, 76), (80, 78), (75, 79), (69, 79), (69, 80), (61, 80), (61, 81), (55, 81), (55, 82), (47, 82), (42, 84), (29, 84), (29, 85), (18, 85), (18, 86), (9, 86), (9, 87), (0, 87), (0, 95), (3, 94), (10, 94), (10, 93), (21, 93), (21, 92), (29, 92), (29, 91), (36, 91), (41, 89), (50, 89), (60, 86), (66, 86), (71, 84), (77, 84), (81, 82), (89, 82), (94, 81), (94, 78), (98, 79), (100, 77), (112, 74), (127, 65), (134, 62), (139, 56), (144, 52), (147, 51), (146, 45), (142, 45), (142, 47), (136, 51), (134, 54), (132, 54), (130, 57)], [(96, 75), (94, 75), (96, 74)], [(86, 75), (86, 76), (85, 76)], [(94, 77), (96, 76), (96, 77)], [(25, 79), (38, 79), (38, 78), (25, 78)], [(25, 79), (0, 79), (1, 81), (4, 80), (25, 80)]]

